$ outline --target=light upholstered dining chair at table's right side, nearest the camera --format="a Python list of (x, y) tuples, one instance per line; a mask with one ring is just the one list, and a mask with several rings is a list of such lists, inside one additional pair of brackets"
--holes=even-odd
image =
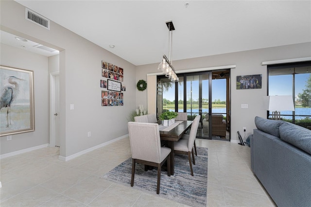
[(192, 125), (191, 125), (191, 128), (190, 128), (189, 138), (188, 139), (186, 139), (186, 138), (179, 139), (177, 142), (175, 142), (175, 146), (174, 146), (174, 152), (176, 154), (188, 155), (190, 171), (191, 171), (192, 176), (193, 176), (193, 169), (192, 169), (192, 163), (191, 163), (191, 154), (192, 154), (192, 159), (193, 159), (193, 165), (195, 165), (193, 146), (194, 146), (194, 140), (196, 137), (196, 133), (197, 133), (198, 127), (199, 127), (200, 117), (201, 117), (200, 115), (197, 115), (194, 118)]

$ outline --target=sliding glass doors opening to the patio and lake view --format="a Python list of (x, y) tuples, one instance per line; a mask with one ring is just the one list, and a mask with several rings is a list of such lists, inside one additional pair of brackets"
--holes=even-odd
[(178, 74), (179, 82), (158, 76), (157, 115), (187, 112), (201, 115), (197, 138), (230, 140), (230, 69)]

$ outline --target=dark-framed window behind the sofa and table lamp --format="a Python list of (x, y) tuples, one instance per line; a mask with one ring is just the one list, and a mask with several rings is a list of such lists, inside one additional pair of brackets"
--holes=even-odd
[(281, 111), (282, 120), (311, 128), (310, 61), (268, 66), (268, 95), (292, 95), (295, 111)]

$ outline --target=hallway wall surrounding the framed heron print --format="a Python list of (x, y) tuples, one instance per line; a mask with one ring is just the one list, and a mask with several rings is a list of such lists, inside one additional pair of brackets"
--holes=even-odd
[[(35, 131), (0, 137), (1, 155), (48, 143), (48, 58), (1, 44), (0, 64), (34, 71)], [(3, 110), (3, 109), (2, 109)], [(3, 127), (3, 126), (1, 126)]]

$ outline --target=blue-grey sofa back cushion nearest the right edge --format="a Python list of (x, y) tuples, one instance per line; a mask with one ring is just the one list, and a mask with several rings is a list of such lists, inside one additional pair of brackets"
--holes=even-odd
[(311, 130), (289, 122), (284, 122), (279, 129), (281, 140), (311, 155)]

